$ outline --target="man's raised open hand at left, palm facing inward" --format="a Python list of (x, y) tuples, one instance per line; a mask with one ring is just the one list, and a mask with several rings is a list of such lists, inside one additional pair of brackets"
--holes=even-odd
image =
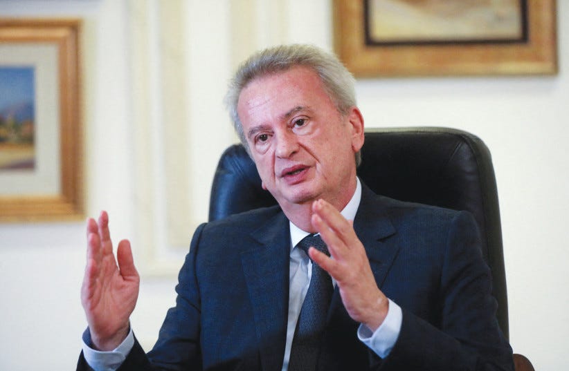
[(91, 346), (96, 350), (114, 350), (123, 342), (138, 298), (140, 277), (128, 240), (118, 243), (116, 260), (118, 266), (109, 232), (109, 216), (102, 211), (98, 222), (93, 218), (87, 220), (87, 267), (81, 287)]

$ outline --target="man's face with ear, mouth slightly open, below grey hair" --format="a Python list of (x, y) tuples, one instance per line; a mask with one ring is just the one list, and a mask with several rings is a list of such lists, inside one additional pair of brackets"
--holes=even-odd
[(355, 107), (338, 113), (313, 70), (294, 67), (253, 80), (237, 113), (263, 188), (283, 209), (318, 198), (342, 208), (350, 200), (363, 120)]

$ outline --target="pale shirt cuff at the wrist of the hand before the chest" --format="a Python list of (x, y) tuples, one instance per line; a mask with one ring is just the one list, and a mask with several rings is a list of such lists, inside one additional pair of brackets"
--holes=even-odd
[(391, 352), (399, 337), (399, 332), (401, 332), (401, 321), (403, 321), (401, 307), (392, 302), (391, 299), (388, 300), (387, 316), (375, 332), (363, 324), (360, 324), (358, 328), (358, 339), (381, 359), (386, 358)]

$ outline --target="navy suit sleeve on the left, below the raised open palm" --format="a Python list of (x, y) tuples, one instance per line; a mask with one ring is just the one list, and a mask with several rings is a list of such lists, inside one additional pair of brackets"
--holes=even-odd
[[(190, 252), (178, 277), (176, 306), (168, 310), (154, 348), (145, 354), (135, 337), (132, 350), (117, 371), (201, 370), (201, 300), (195, 278), (195, 260), (204, 226), (205, 224), (200, 225), (192, 238)], [(85, 361), (82, 352), (77, 370), (93, 370)]]

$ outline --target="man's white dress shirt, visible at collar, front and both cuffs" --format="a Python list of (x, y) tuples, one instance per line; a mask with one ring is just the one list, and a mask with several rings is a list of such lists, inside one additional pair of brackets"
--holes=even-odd
[[(360, 200), (361, 183), (359, 179), (357, 179), (354, 196), (352, 196), (350, 202), (348, 202), (341, 211), (342, 216), (347, 220), (354, 220)], [(296, 225), (293, 225), (292, 223), (290, 223), (290, 231), (291, 254), (289, 266), (289, 317), (287, 325), (287, 343), (284, 348), (282, 371), (287, 371), (289, 367), (292, 338), (294, 336), (296, 322), (298, 321), (298, 315), (300, 314), (300, 308), (302, 308), (302, 303), (305, 300), (308, 286), (310, 285), (312, 272), (312, 263), (307, 254), (305, 254), (302, 249), (296, 248), (298, 242), (300, 242), (302, 238), (305, 238), (309, 233), (302, 231), (302, 229), (296, 227)], [(334, 278), (332, 278), (332, 284), (336, 285)], [(395, 341), (397, 341), (397, 337), (401, 330), (401, 320), (401, 308), (389, 300), (388, 314), (385, 320), (383, 320), (383, 323), (381, 323), (381, 326), (379, 326), (375, 332), (372, 332), (367, 326), (363, 324), (360, 325), (357, 333), (358, 338), (378, 356), (385, 358), (393, 348), (393, 345), (395, 345)], [(83, 355), (91, 368), (96, 371), (116, 371), (116, 369), (118, 369), (125, 361), (127, 355), (132, 349), (132, 346), (134, 345), (134, 335), (132, 334), (131, 329), (127, 339), (125, 339), (125, 341), (123, 341), (123, 343), (121, 343), (115, 350), (110, 352), (93, 350), (89, 347), (89, 344), (91, 344), (91, 336), (89, 334), (89, 329), (87, 329), (83, 334)]]

